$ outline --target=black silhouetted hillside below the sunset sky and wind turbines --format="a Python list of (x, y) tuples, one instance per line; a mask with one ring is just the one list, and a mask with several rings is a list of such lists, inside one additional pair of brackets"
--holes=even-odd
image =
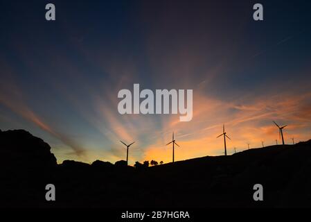
[[(57, 164), (42, 139), (8, 130), (0, 155), (1, 207), (311, 207), (311, 140), (134, 168), (124, 160)], [(45, 200), (48, 183), (56, 201)]]

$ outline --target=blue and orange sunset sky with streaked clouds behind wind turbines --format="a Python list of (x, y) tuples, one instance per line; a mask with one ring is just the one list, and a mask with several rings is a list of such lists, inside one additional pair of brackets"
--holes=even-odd
[[(217, 2), (217, 3), (215, 3)], [(1, 1), (0, 129), (63, 160), (170, 162), (311, 139), (311, 3)], [(45, 20), (55, 3), (56, 21)], [(118, 113), (121, 89), (193, 89), (193, 119)]]

